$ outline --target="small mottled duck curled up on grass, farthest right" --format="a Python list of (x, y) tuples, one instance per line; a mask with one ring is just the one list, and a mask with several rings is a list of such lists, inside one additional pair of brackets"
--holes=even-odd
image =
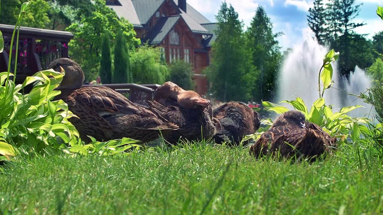
[(317, 124), (307, 122), (303, 112), (293, 110), (281, 114), (261, 137), (250, 146), (250, 155), (280, 153), (283, 158), (318, 158), (331, 155), (336, 149), (336, 138)]

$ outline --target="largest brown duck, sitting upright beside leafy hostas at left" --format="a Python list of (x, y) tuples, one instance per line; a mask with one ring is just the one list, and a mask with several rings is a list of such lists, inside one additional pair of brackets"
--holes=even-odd
[(95, 85), (82, 88), (85, 79), (83, 70), (71, 59), (56, 59), (49, 64), (48, 69), (65, 71), (56, 88), (61, 94), (54, 100), (63, 100), (77, 116), (71, 117), (69, 121), (85, 143), (91, 142), (87, 135), (100, 142), (123, 137), (149, 142), (159, 138), (160, 134), (178, 129), (178, 125), (129, 101), (108, 87)]

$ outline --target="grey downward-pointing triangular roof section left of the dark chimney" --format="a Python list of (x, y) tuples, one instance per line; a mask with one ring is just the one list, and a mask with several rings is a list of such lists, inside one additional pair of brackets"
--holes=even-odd
[(146, 24), (165, 0), (131, 0), (141, 24)]

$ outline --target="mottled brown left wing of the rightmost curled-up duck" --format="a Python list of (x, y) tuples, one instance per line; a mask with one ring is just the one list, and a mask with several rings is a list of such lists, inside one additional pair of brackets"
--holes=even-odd
[(290, 132), (292, 129), (293, 128), (288, 125), (271, 127), (267, 132), (261, 135), (254, 145), (250, 146), (250, 155), (254, 155), (256, 158), (261, 155), (266, 155), (269, 146), (273, 145), (277, 138)]

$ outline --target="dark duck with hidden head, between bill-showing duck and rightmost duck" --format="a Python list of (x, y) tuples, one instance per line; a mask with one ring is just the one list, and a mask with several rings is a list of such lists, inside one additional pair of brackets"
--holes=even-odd
[[(218, 103), (213, 107), (213, 117), (219, 127), (214, 135), (218, 144), (240, 145), (245, 135), (254, 134), (260, 127), (260, 115), (243, 102)], [(249, 141), (242, 143), (248, 145)]]

